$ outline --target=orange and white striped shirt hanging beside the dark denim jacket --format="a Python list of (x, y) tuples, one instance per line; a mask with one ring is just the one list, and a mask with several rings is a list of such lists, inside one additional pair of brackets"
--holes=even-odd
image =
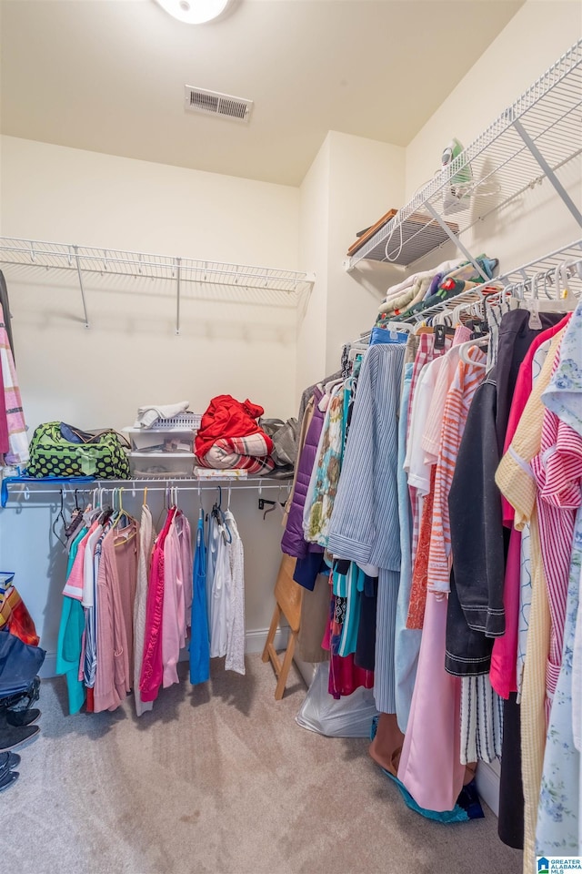
[(485, 367), (479, 365), (485, 364), (487, 361), (487, 355), (478, 347), (470, 349), (469, 354), (475, 364), (459, 361), (457, 375), (448, 391), (445, 403), (435, 474), (433, 525), (428, 554), (427, 588), (429, 592), (447, 593), (450, 591), (452, 553), (448, 493), (453, 482), (457, 454), (467, 422), (469, 406), (477, 387), (485, 379)]

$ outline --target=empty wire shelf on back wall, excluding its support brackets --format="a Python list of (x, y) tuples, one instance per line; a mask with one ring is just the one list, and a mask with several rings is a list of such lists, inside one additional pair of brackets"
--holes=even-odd
[(80, 269), (82, 273), (142, 279), (176, 281), (179, 275), (184, 282), (286, 291), (296, 295), (310, 290), (314, 282), (307, 273), (298, 270), (249, 267), (222, 261), (174, 258), (120, 249), (95, 249), (13, 237), (0, 237), (0, 262), (46, 269)]

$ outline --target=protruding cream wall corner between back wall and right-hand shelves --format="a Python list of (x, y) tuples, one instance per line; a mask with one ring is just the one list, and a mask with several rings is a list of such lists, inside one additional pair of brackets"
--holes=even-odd
[(315, 265), (316, 285), (300, 310), (297, 394), (338, 370), (342, 346), (368, 330), (394, 268), (343, 261), (356, 233), (404, 197), (405, 150), (329, 131), (301, 186), (300, 263)]

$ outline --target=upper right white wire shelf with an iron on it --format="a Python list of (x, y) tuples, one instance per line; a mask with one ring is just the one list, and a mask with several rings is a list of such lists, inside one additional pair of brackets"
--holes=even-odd
[[(582, 39), (420, 188), (393, 219), (344, 261), (344, 267), (352, 270), (362, 259), (407, 267), (447, 239), (475, 264), (459, 237), (544, 179), (556, 188), (582, 227), (580, 207), (558, 177), (558, 171), (580, 155)], [(451, 203), (452, 208), (447, 206)]]

